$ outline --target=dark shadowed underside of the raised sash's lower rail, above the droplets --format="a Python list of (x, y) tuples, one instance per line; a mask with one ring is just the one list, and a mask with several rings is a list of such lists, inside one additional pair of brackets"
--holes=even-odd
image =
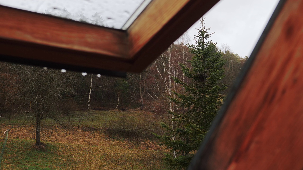
[[(14, 40), (7, 40), (0, 38), (0, 54), (4, 56), (12, 56), (10, 62), (16, 62), (14, 57), (21, 57), (23, 59), (28, 59), (32, 62), (35, 60), (35, 65), (41, 67), (53, 67), (55, 65), (62, 66), (58, 69), (67, 69), (81, 72), (89, 72), (99, 74), (102, 69), (105, 70), (126, 70), (131, 66), (130, 63), (124, 60), (112, 60), (107, 57), (100, 57), (99, 54), (86, 53), (82, 51), (67, 50), (56, 47), (41, 46), (39, 44), (31, 44), (28, 42), (17, 42)], [(0, 55), (0, 60), (4, 60)], [(21, 64), (31, 64), (31, 62), (24, 62), (25, 60), (20, 60)], [(39, 64), (40, 63), (40, 64)], [(64, 67), (66, 65), (66, 67)], [(72, 66), (90, 68), (78, 70), (73, 69)], [(100, 70), (101, 69), (101, 70)]]

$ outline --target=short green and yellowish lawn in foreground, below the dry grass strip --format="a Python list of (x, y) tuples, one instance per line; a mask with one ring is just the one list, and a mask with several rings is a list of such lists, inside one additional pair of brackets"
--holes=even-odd
[(162, 152), (10, 139), (1, 169), (162, 169)]

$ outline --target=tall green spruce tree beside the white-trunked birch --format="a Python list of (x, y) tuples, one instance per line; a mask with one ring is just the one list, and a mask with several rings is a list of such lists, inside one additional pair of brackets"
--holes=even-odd
[(191, 67), (181, 64), (183, 74), (190, 81), (186, 83), (173, 78), (185, 91), (183, 94), (173, 92), (177, 97), (170, 99), (179, 108), (178, 113), (169, 112), (173, 115), (174, 125), (162, 124), (166, 133), (157, 136), (161, 145), (176, 152), (176, 156), (165, 154), (164, 161), (171, 169), (188, 167), (225, 98), (221, 92), (227, 86), (220, 82), (224, 77), (223, 66), (226, 61), (221, 58), (221, 51), (218, 51), (216, 44), (207, 41), (213, 34), (208, 31), (209, 28), (205, 28), (201, 20), (195, 44), (189, 46), (190, 52), (194, 54), (188, 61)]

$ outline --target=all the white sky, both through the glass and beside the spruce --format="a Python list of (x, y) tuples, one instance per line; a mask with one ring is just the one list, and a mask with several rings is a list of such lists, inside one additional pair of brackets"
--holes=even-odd
[[(66, 8), (71, 14), (80, 12), (91, 18), (98, 12), (108, 27), (121, 28), (143, 0), (0, 0), (1, 5), (34, 12), (60, 12)], [(206, 27), (215, 32), (211, 40), (228, 44), (241, 57), (249, 56), (264, 30), (278, 0), (221, 0), (206, 13)], [(55, 9), (54, 9), (55, 8)], [(198, 22), (188, 34), (194, 43)]]

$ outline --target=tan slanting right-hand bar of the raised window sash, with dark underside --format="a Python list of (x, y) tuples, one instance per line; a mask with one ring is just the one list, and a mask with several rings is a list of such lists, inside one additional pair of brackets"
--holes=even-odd
[(141, 72), (219, 0), (153, 0), (128, 28), (128, 71)]

